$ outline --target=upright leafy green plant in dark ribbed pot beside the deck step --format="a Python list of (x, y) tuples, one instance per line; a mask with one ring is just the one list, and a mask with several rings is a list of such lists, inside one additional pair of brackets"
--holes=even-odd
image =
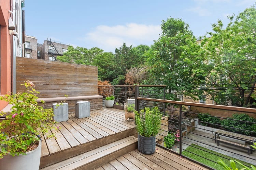
[(156, 150), (156, 135), (161, 127), (161, 117), (158, 107), (145, 107), (139, 114), (135, 113), (136, 129), (138, 131), (138, 150), (143, 154), (153, 154)]

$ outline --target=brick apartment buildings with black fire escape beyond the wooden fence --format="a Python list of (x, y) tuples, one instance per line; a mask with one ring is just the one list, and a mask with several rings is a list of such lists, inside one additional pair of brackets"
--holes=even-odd
[(48, 38), (43, 44), (39, 44), (37, 38), (26, 35), (25, 57), (56, 61), (58, 55), (68, 51), (68, 46)]

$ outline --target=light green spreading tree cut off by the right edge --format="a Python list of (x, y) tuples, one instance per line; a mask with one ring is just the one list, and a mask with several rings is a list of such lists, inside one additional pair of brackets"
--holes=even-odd
[(256, 9), (228, 18), (226, 28), (222, 20), (212, 24), (214, 32), (203, 46), (205, 62), (195, 72), (207, 78), (217, 104), (250, 107), (256, 84)]

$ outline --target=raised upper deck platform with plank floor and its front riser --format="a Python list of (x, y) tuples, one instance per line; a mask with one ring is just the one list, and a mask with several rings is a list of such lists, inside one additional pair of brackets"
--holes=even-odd
[(90, 111), (90, 117), (81, 119), (69, 114), (68, 121), (57, 125), (56, 139), (42, 141), (40, 168), (137, 134), (134, 121), (114, 108)]

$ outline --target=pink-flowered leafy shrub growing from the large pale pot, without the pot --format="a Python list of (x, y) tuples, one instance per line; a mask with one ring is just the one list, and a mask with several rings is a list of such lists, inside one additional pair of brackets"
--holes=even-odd
[(38, 105), (39, 92), (33, 88), (32, 82), (25, 81), (22, 85), (26, 87), (24, 92), (0, 97), (0, 100), (13, 105), (10, 114), (0, 113), (1, 116), (6, 114), (5, 120), (0, 123), (0, 130), (4, 131), (0, 134), (0, 158), (6, 154), (25, 154), (43, 135), (45, 139), (55, 137), (49, 131), (56, 127), (53, 109)]

